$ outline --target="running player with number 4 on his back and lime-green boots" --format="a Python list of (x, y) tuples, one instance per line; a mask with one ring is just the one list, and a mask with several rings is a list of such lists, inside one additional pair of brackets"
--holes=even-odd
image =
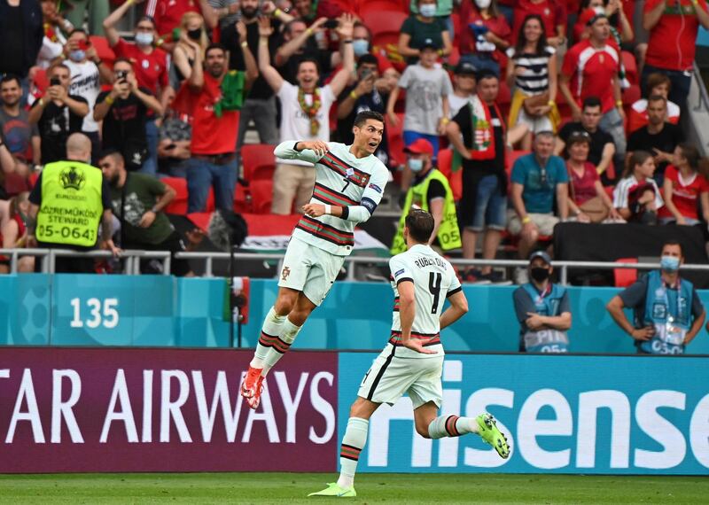
[[(468, 312), (468, 300), (453, 267), (428, 246), (432, 231), (431, 214), (415, 209), (406, 217), (403, 234), (408, 251), (389, 260), (394, 291), (392, 338), (364, 376), (350, 408), (339, 452), (338, 481), (308, 496), (357, 495), (354, 472), (367, 442), (370, 417), (382, 403), (393, 405), (405, 392), (414, 407), (416, 431), (425, 439), (477, 433), (498, 455), (510, 455), (507, 439), (493, 416), (438, 416), (443, 402), (439, 332)], [(450, 307), (440, 314), (447, 298)]]

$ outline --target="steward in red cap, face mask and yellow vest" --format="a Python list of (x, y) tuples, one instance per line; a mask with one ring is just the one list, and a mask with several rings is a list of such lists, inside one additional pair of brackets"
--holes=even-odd
[(406, 148), (409, 153), (409, 169), (415, 179), (406, 194), (399, 220), (399, 229), (393, 238), (392, 254), (406, 251), (403, 230), (406, 216), (412, 206), (417, 206), (433, 216), (433, 234), (443, 251), (461, 247), (460, 229), (456, 215), (456, 202), (445, 175), (432, 166), (433, 147), (424, 138)]

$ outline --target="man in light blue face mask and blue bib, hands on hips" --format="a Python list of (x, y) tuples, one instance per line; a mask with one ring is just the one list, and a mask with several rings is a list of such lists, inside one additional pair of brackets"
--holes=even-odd
[[(652, 270), (620, 292), (606, 308), (613, 320), (635, 341), (638, 354), (684, 354), (702, 329), (706, 312), (697, 290), (680, 276), (682, 244), (662, 245), (659, 270)], [(629, 322), (624, 308), (633, 308)]]

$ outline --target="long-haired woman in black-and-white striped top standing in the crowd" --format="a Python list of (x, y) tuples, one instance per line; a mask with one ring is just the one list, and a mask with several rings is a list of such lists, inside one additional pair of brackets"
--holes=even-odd
[(530, 14), (519, 27), (515, 47), (507, 50), (507, 83), (515, 92), (510, 105), (510, 128), (526, 124), (529, 133), (522, 138), (521, 148), (532, 148), (532, 134), (540, 131), (556, 133), (561, 122), (557, 110), (556, 50), (547, 43), (541, 16)]

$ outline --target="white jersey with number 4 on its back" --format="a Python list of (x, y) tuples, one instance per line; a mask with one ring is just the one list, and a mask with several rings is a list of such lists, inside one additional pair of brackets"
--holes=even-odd
[[(397, 254), (389, 260), (392, 271), (394, 306), (392, 316), (392, 338), (389, 343), (401, 346), (401, 321), (399, 319), (399, 290), (402, 282), (414, 283), (416, 315), (411, 327), (411, 338), (421, 339), (424, 346), (440, 346), (440, 314), (443, 302), (450, 295), (461, 290), (460, 281), (448, 260), (442, 258), (428, 245), (414, 245), (406, 253)], [(396, 350), (399, 357), (425, 358), (439, 354), (420, 354), (405, 347)]]

